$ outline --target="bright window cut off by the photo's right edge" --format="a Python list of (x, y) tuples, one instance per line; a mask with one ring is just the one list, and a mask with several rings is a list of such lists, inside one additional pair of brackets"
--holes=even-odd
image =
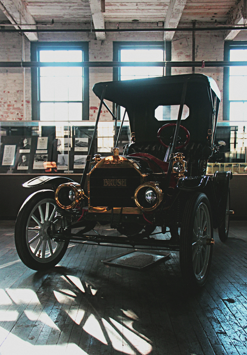
[[(224, 60), (247, 60), (247, 42), (225, 42)], [(247, 121), (247, 66), (224, 68), (223, 119)]]

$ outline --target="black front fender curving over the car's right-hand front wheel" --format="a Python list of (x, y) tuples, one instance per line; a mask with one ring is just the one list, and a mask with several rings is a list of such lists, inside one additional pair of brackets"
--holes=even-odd
[(209, 199), (212, 211), (213, 228), (219, 225), (218, 204), (215, 187), (210, 176), (184, 177), (178, 180), (177, 188), (184, 192), (203, 192)]

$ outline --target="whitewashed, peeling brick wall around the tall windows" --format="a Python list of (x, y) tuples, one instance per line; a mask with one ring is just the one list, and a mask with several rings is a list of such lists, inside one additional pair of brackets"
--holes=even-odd
[[(201, 24), (204, 26), (205, 24)], [(68, 24), (63, 26), (69, 27)], [(86, 26), (86, 25), (85, 25)], [(132, 27), (133, 24), (120, 24), (120, 27)], [(153, 24), (137, 24), (140, 27), (152, 27)], [(75, 28), (75, 25), (72, 26)], [(106, 28), (115, 28), (108, 23)], [(241, 38), (243, 39), (243, 38)], [(111, 61), (113, 41), (162, 41), (162, 32), (106, 33), (106, 40), (97, 41), (94, 33), (39, 33), (40, 41), (89, 41), (90, 61)], [(20, 34), (0, 34), (0, 61), (21, 61), (24, 42), (25, 60), (30, 60), (30, 43)], [(196, 60), (223, 60), (224, 37), (222, 32), (196, 32)], [(172, 41), (172, 60), (192, 60), (192, 33), (176, 32)], [(172, 68), (172, 74), (191, 73), (191, 68)], [(196, 73), (203, 73), (214, 78), (222, 93), (223, 68), (196, 68)], [(25, 93), (24, 88), (25, 78)], [(99, 99), (92, 92), (92, 87), (100, 81), (112, 80), (112, 68), (89, 69), (89, 120), (95, 120)], [(111, 105), (109, 104), (111, 107)], [(107, 110), (103, 109), (104, 120), (111, 120)], [(0, 68), (0, 120), (31, 120), (31, 77), (30, 69)], [(222, 105), (219, 113), (222, 120)]]

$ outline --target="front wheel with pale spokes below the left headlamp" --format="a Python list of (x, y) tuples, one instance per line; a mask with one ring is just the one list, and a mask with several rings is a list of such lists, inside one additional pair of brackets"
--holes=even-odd
[(50, 238), (51, 224), (59, 229), (63, 223), (55, 221), (55, 206), (53, 191), (38, 191), (27, 198), (17, 216), (16, 250), (30, 269), (46, 270), (55, 266), (68, 248), (69, 242), (55, 242)]

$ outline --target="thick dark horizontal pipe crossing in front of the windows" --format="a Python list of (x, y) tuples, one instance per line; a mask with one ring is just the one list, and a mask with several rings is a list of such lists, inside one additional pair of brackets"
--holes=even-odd
[(120, 66), (162, 66), (162, 67), (225, 67), (247, 66), (247, 61), (144, 61), (144, 62), (119, 62), (119, 61), (83, 61), (83, 62), (38, 62), (38, 61), (0, 61), (1, 68), (38, 68), (46, 66), (82, 66), (89, 67), (120, 67)]

